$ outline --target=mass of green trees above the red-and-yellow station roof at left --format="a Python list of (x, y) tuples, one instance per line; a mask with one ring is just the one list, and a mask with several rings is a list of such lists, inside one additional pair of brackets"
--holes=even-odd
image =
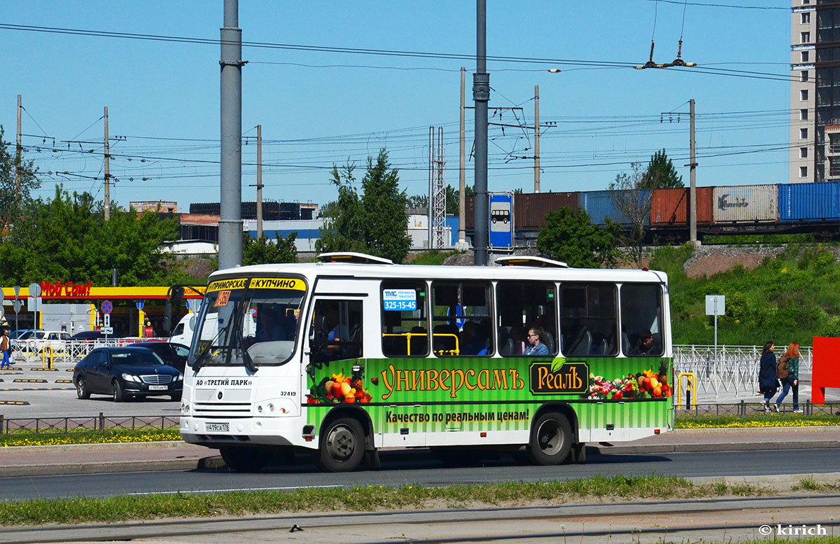
[(110, 285), (167, 285), (183, 280), (162, 249), (177, 238), (176, 219), (113, 207), (104, 221), (102, 202), (90, 193), (69, 195), (60, 186), (51, 200), (30, 201), (0, 243), (0, 282), (91, 280)]

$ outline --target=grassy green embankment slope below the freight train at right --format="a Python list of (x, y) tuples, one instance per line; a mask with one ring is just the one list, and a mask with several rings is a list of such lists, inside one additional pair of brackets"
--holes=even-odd
[(840, 268), (832, 247), (790, 244), (780, 251), (751, 270), (738, 265), (692, 279), (685, 263), (693, 248), (655, 250), (648, 267), (668, 274), (674, 343), (711, 343), (714, 318), (706, 316), (706, 295), (726, 296), (726, 315), (717, 320), (721, 344), (809, 345), (812, 337), (840, 336)]

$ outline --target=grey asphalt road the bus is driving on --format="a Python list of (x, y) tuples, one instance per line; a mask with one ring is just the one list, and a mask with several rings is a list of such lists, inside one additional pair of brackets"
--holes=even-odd
[[(81, 455), (95, 455), (82, 452)], [(0, 500), (49, 499), (118, 494), (213, 492), (298, 487), (422, 484), (429, 486), (493, 482), (565, 480), (598, 474), (660, 474), (682, 477), (761, 476), (830, 473), (840, 466), (834, 449), (696, 452), (636, 455), (592, 455), (587, 463), (558, 467), (521, 466), (509, 458), (481, 467), (448, 468), (413, 452), (382, 455), (383, 468), (354, 473), (321, 473), (309, 464), (269, 468), (260, 473), (229, 473), (226, 469), (144, 473), (29, 476), (0, 479)]]

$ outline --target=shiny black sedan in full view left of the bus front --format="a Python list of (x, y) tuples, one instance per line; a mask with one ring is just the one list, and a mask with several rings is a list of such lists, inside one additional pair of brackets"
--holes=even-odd
[(128, 397), (169, 395), (181, 400), (184, 374), (146, 348), (96, 348), (73, 369), (80, 399), (92, 393), (111, 395), (114, 402)]

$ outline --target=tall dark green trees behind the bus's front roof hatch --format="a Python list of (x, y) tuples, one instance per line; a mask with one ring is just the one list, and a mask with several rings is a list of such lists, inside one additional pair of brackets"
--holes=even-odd
[(408, 198), (399, 190), (397, 170), (381, 149), (376, 160), (368, 157), (362, 194), (356, 191), (354, 165), (333, 166), (333, 185), (339, 189), (333, 213), (321, 228), (316, 250), (358, 251), (401, 263), (411, 247), (406, 232)]

